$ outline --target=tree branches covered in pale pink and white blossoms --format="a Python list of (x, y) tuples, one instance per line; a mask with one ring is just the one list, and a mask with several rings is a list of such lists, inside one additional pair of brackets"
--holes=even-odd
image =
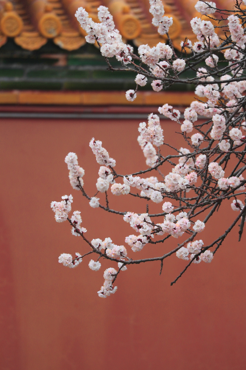
[[(246, 5), (246, 0), (243, 0), (243, 3)], [(139, 124), (138, 143), (148, 166), (144, 171), (128, 175), (118, 174), (115, 170), (115, 160), (102, 147), (102, 142), (91, 139), (89, 145), (97, 163), (101, 165), (96, 187), (98, 192), (105, 194), (105, 205), (99, 202), (100, 199), (96, 196), (98, 192), (91, 197), (84, 190), (84, 170), (78, 165), (77, 155), (71, 152), (66, 156), (65, 162), (72, 188), (81, 191), (91, 207), (100, 207), (106, 212), (115, 213), (117, 217), (122, 216), (134, 229), (136, 235), (125, 237), (125, 243), (133, 252), (140, 252), (147, 243), (164, 243), (170, 237), (185, 236), (175, 249), (162, 256), (132, 259), (128, 257), (125, 246), (115, 245), (110, 238), (91, 241), (86, 238), (87, 230), (81, 226), (80, 212), (73, 212), (71, 218), (68, 216), (73, 202), (72, 195), (62, 196), (61, 202), (52, 202), (51, 208), (55, 212), (56, 221), (68, 221), (72, 226), (72, 234), (81, 236), (90, 249), (84, 255), (76, 253), (75, 258), (63, 253), (59, 262), (74, 268), (82, 262), (84, 256), (93, 254), (95, 257), (89, 262), (91, 270), (100, 269), (99, 260), (102, 257), (116, 267), (104, 271), (105, 281), (98, 291), (99, 297), (107, 297), (116, 291), (117, 286), (113, 284), (117, 275), (129, 266), (159, 260), (161, 273), (163, 260), (176, 253), (178, 258), (189, 262), (172, 285), (191, 263), (210, 263), (216, 250), (239, 220), (239, 240), (241, 238), (246, 215), (246, 205), (238, 198), (239, 195), (246, 194), (246, 180), (242, 175), (246, 170), (246, 138), (242, 133), (242, 130), (246, 130), (246, 11), (241, 5), (242, 3), (236, 0), (232, 10), (223, 10), (218, 9), (214, 2), (198, 1), (195, 9), (206, 17), (205, 20), (202, 16), (191, 20), (191, 27), (198, 41), (192, 44), (190, 40), (185, 39), (181, 43), (182, 58), (177, 57), (170, 40), (168, 32), (173, 21), (172, 18), (164, 16), (161, 0), (150, 0), (150, 13), (153, 15), (153, 25), (158, 28), (159, 34), (166, 34), (169, 44), (158, 43), (152, 48), (148, 44), (141, 45), (138, 48), (139, 55), (135, 55), (133, 48), (123, 43), (106, 7), (98, 8), (98, 19), (101, 23), (95, 23), (89, 18), (83, 8), (79, 8), (75, 14), (81, 27), (87, 32), (86, 41), (96, 42), (100, 47), (108, 70), (136, 73), (136, 89), (126, 92), (127, 100), (133, 101), (138, 87), (146, 85), (148, 79), (152, 80), (154, 91), (166, 89), (174, 83), (195, 84), (195, 94), (199, 98), (207, 98), (194, 100), (190, 107), (185, 109), (183, 121), (180, 120), (180, 112), (171, 105), (164, 104), (159, 107), (161, 115), (174, 121), (177, 127), (180, 126), (180, 134), (187, 148), (177, 149), (164, 142), (163, 129), (157, 115), (151, 113), (148, 124)], [(122, 68), (112, 67), (108, 58), (114, 56), (121, 61)], [(219, 56), (224, 61), (219, 61)], [(204, 67), (201, 67), (202, 62)], [(182, 78), (182, 74), (189, 70), (194, 72), (194, 77)], [(204, 102), (205, 100), (207, 101)], [(203, 121), (195, 124), (198, 115)], [(174, 127), (174, 130), (177, 128)], [(162, 145), (174, 149), (176, 154), (164, 157), (161, 153)], [(165, 162), (173, 165), (168, 174), (161, 172)], [(229, 162), (232, 162), (234, 168), (227, 173), (228, 177), (225, 177)], [(148, 176), (153, 170), (159, 172), (163, 178), (162, 182), (155, 176), (142, 177)], [(160, 213), (149, 214), (148, 205), (146, 213), (141, 214), (111, 209), (107, 198), (110, 185), (115, 196), (137, 196), (143, 202), (162, 203)], [(140, 194), (132, 193), (131, 188), (138, 189)], [(238, 212), (237, 216), (223, 235), (213, 236), (209, 245), (204, 245), (197, 234), (204, 231), (206, 222), (226, 199), (232, 201), (231, 208)], [(179, 205), (174, 206), (173, 203)], [(163, 239), (155, 240), (156, 235), (163, 235)]]

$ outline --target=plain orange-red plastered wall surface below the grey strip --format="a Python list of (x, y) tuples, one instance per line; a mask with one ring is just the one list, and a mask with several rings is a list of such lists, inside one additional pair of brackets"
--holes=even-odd
[[(139, 122), (1, 120), (1, 370), (246, 368), (245, 235), (238, 243), (237, 225), (212, 263), (190, 266), (173, 286), (186, 265), (175, 254), (164, 260), (161, 276), (159, 262), (129, 266), (117, 277), (117, 292), (106, 299), (97, 290), (104, 269), (114, 263), (103, 260), (97, 272), (88, 267), (91, 255), (76, 269), (58, 263), (60, 253), (89, 251), (82, 238), (72, 236), (68, 222), (55, 222), (50, 203), (62, 195), (74, 196), (72, 211), (81, 211), (89, 240), (111, 237), (125, 244), (125, 236), (134, 233), (122, 216), (91, 208), (71, 188), (64, 158), (77, 153), (84, 188), (93, 196), (100, 165), (91, 137), (103, 141), (117, 172), (146, 169), (136, 141)], [(164, 120), (162, 127), (166, 142), (186, 147), (174, 134), (174, 122)], [(105, 204), (104, 194), (99, 198)], [(109, 201), (120, 211), (146, 210), (145, 202), (130, 195), (110, 194)], [(150, 205), (150, 213), (162, 212), (161, 205)], [(228, 201), (199, 238), (211, 242), (236, 215)], [(129, 256), (163, 255), (178, 242), (169, 238), (135, 254), (128, 246)]]

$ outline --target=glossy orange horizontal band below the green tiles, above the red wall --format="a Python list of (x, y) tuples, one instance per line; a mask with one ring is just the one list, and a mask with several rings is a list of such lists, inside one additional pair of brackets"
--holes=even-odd
[(194, 100), (192, 91), (139, 91), (134, 101), (125, 98), (124, 91), (0, 91), (2, 104), (36, 105), (183, 105)]

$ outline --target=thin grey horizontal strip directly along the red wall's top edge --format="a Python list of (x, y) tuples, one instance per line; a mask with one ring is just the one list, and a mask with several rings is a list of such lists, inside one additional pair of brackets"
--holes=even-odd
[[(160, 116), (159, 116), (160, 117)], [(141, 113), (50, 113), (50, 112), (0, 112), (0, 118), (99, 118), (99, 119), (139, 119), (147, 120), (148, 114)], [(168, 120), (167, 117), (160, 117)], [(180, 117), (182, 119), (182, 117)]]

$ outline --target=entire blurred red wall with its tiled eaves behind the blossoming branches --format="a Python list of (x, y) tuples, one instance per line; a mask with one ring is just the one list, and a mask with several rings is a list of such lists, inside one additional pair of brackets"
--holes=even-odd
[[(197, 16), (196, 2), (163, 1), (173, 17), (170, 36), (177, 54), (185, 37), (195, 41), (190, 19)], [(233, 0), (216, 4), (232, 7)], [(91, 208), (71, 188), (67, 153), (78, 155), (84, 187), (94, 195), (100, 166), (89, 148), (91, 137), (103, 141), (117, 172), (146, 169), (136, 141), (139, 122), (159, 105), (183, 112), (194, 100), (192, 85), (156, 93), (151, 81), (134, 102), (126, 100), (134, 75), (108, 71), (74, 17), (83, 6), (97, 21), (100, 5), (109, 7), (135, 50), (166, 42), (151, 26), (147, 0), (0, 1), (0, 370), (244, 370), (245, 236), (238, 243), (238, 226), (211, 264), (191, 266), (173, 286), (185, 266), (175, 255), (164, 261), (161, 276), (157, 262), (130, 266), (107, 299), (97, 295), (103, 271), (111, 267), (107, 261), (98, 272), (89, 269), (90, 256), (76, 269), (58, 263), (60, 253), (88, 250), (68, 223), (54, 220), (49, 205), (64, 194), (74, 196), (72, 210), (82, 212), (89, 240), (111, 237), (124, 244), (132, 233), (122, 216)], [(166, 142), (185, 146), (173, 135), (173, 122), (161, 124)], [(166, 148), (164, 155), (171, 153)], [(166, 164), (164, 172), (170, 169)], [(145, 212), (146, 204), (133, 199), (109, 195), (111, 208)], [(150, 211), (160, 212), (160, 206)], [(230, 202), (221, 206), (201, 235), (204, 242), (221, 235), (235, 214)], [(177, 246), (170, 239), (147, 245), (138, 256), (163, 255)]]

